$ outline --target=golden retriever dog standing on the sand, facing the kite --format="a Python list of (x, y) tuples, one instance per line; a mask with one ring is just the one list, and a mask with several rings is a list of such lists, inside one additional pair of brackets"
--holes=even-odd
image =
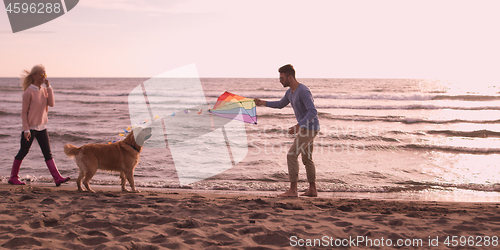
[(124, 140), (111, 144), (92, 143), (79, 148), (66, 144), (64, 153), (68, 157), (75, 157), (76, 165), (80, 168), (80, 174), (76, 179), (78, 191), (83, 191), (83, 179), (83, 185), (85, 185), (87, 191), (95, 193), (94, 190), (90, 189), (89, 181), (97, 172), (97, 169), (101, 169), (120, 172), (122, 191), (129, 191), (125, 188), (128, 180), (132, 192), (139, 192), (135, 188), (134, 169), (139, 163), (142, 146), (150, 137), (151, 128), (136, 127)]

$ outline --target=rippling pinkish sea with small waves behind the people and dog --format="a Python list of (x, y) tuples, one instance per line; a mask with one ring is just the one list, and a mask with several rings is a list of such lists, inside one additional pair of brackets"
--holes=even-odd
[[(128, 96), (146, 78), (49, 78), (56, 105), (49, 108), (52, 153), (64, 176), (78, 168), (63, 152), (71, 143), (120, 140), (132, 124)], [(432, 193), (500, 191), (500, 87), (425, 79), (298, 79), (313, 93), (321, 131), (314, 141), (317, 185), (325, 193)], [(201, 78), (208, 107), (234, 94), (279, 100), (286, 89), (276, 78)], [(0, 179), (7, 182), (20, 144), (19, 79), (0, 78)], [(185, 101), (185, 102), (184, 102)], [(184, 100), (181, 102), (189, 103)], [(210, 115), (204, 109), (203, 115)], [(166, 118), (165, 118), (166, 119)], [(284, 191), (286, 152), (296, 124), (290, 106), (257, 107), (257, 124), (246, 124), (248, 152), (232, 168), (181, 185), (171, 152), (144, 148), (136, 185), (149, 188)], [(194, 145), (193, 145), (194, 146)], [(197, 145), (199, 146), (199, 145)], [(208, 163), (207, 163), (208, 164)], [(217, 164), (211, 162), (209, 164)], [(210, 166), (198, 166), (200, 168)], [(34, 143), (21, 179), (51, 182)], [(299, 189), (307, 187), (301, 163)], [(92, 185), (118, 185), (117, 173), (98, 171)]]

